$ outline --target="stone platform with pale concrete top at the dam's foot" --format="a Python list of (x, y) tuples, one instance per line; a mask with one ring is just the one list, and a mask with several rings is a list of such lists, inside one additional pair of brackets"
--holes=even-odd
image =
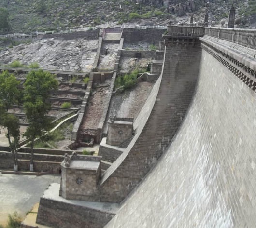
[(119, 204), (68, 200), (59, 196), (53, 183), (40, 199), (37, 223), (55, 228), (102, 228), (119, 210)]

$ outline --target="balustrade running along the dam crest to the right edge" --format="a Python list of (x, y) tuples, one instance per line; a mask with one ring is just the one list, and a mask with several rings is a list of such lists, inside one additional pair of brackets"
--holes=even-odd
[(256, 29), (205, 28), (205, 35), (256, 50)]

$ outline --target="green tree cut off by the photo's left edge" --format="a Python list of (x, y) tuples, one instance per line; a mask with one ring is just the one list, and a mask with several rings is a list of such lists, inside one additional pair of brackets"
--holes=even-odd
[(14, 171), (18, 170), (19, 119), (8, 113), (8, 110), (20, 100), (18, 85), (19, 81), (7, 70), (0, 74), (0, 125), (7, 129), (6, 137), (14, 157)]

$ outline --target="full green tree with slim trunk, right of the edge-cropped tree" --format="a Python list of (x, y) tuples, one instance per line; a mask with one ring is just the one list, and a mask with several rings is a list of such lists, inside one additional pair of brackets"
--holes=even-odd
[(24, 108), (29, 123), (24, 136), (30, 141), (30, 171), (33, 172), (35, 139), (51, 128), (51, 120), (47, 116), (51, 109), (49, 98), (51, 90), (57, 89), (58, 82), (52, 74), (40, 69), (29, 72), (24, 85)]

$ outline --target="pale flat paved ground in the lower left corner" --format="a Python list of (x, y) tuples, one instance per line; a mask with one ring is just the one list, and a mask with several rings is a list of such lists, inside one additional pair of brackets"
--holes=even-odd
[(53, 182), (60, 183), (60, 176), (0, 174), (0, 224), (5, 224), (14, 211), (24, 218)]

